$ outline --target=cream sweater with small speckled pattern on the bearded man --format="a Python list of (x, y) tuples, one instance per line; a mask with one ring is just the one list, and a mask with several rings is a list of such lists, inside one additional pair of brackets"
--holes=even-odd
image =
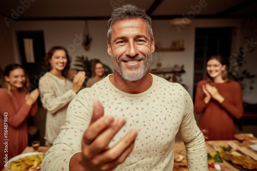
[(132, 153), (115, 170), (173, 170), (177, 133), (185, 142), (190, 170), (208, 170), (205, 140), (196, 125), (190, 95), (180, 84), (152, 76), (151, 88), (140, 94), (118, 90), (109, 75), (81, 90), (68, 106), (65, 125), (47, 152), (42, 170), (69, 170), (70, 158), (81, 151), (94, 100), (102, 103), (105, 114), (126, 119), (109, 146), (129, 130), (138, 131)]

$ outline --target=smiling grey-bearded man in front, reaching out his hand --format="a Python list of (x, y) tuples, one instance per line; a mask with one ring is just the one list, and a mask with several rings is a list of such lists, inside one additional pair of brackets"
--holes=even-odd
[(179, 133), (190, 170), (208, 170), (205, 140), (188, 92), (150, 74), (151, 18), (123, 5), (108, 20), (114, 74), (70, 102), (66, 124), (42, 170), (172, 170)]

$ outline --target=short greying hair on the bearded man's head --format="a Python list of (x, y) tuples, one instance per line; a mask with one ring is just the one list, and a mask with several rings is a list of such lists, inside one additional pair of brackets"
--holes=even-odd
[(148, 25), (149, 33), (151, 35), (151, 39), (153, 38), (153, 30), (152, 30), (152, 19), (148, 16), (144, 9), (140, 9), (135, 5), (125, 4), (121, 7), (114, 9), (111, 18), (108, 20), (108, 32), (107, 32), (107, 40), (111, 40), (111, 33), (112, 33), (112, 26), (115, 22), (121, 19), (126, 18), (142, 18), (145, 20), (146, 24)]

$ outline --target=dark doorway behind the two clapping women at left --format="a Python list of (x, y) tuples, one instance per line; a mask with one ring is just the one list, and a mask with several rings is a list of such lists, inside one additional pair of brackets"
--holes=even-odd
[[(28, 72), (30, 80), (30, 91), (39, 87), (39, 79), (47, 70), (44, 67), (45, 43), (43, 31), (17, 31), (17, 41), (21, 62)], [(46, 111), (43, 109), (40, 97), (38, 98), (38, 113), (28, 116), (28, 145), (31, 141), (40, 140), (44, 144)]]

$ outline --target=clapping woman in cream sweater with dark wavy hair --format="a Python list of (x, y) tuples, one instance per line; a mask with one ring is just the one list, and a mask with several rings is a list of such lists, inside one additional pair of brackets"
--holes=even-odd
[(46, 114), (45, 145), (51, 146), (65, 123), (69, 102), (81, 90), (85, 72), (78, 72), (73, 82), (67, 78), (70, 57), (63, 47), (52, 47), (45, 57), (50, 71), (39, 80), (40, 98)]

